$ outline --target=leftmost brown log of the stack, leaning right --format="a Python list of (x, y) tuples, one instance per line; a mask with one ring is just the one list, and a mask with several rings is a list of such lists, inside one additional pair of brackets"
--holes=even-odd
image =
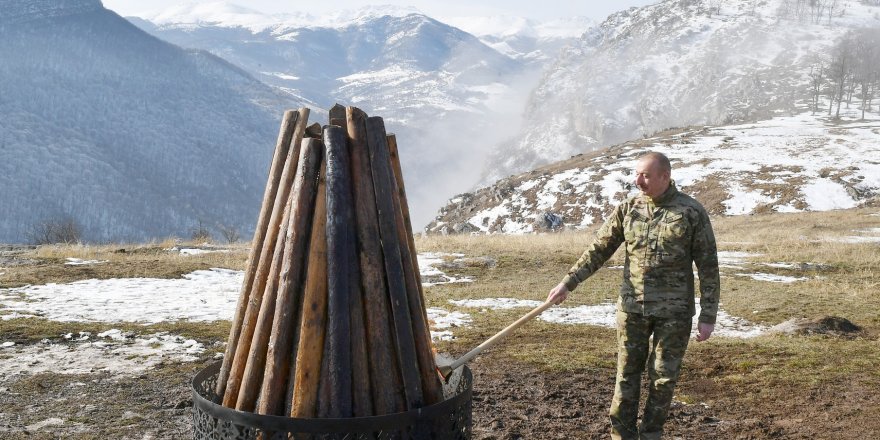
[(238, 347), (238, 337), (241, 335), (241, 323), (244, 320), (251, 286), (254, 283), (254, 275), (257, 272), (257, 262), (263, 249), (263, 240), (266, 238), (266, 228), (275, 206), (275, 194), (278, 192), (278, 183), (284, 170), (284, 162), (287, 152), (290, 150), (291, 138), (296, 127), (299, 113), (293, 110), (284, 112), (281, 119), (281, 129), (278, 133), (278, 141), (275, 143), (275, 153), (272, 164), (269, 166), (269, 179), (266, 182), (266, 190), (263, 193), (263, 204), (260, 207), (260, 216), (257, 219), (257, 227), (254, 229), (254, 239), (251, 241), (251, 251), (248, 254), (247, 265), (244, 271), (244, 281), (241, 284), (241, 295), (238, 298), (238, 306), (235, 308), (235, 316), (232, 318), (232, 326), (229, 329), (229, 339), (226, 343), (226, 353), (223, 355), (223, 363), (217, 376), (215, 391), (218, 396), (226, 392), (226, 380), (229, 378), (229, 369), (232, 366), (232, 358)]

